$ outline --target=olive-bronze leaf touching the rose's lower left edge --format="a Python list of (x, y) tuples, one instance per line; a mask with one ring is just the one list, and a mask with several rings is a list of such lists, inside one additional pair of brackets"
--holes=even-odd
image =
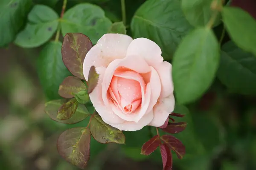
[(125, 143), (125, 135), (121, 130), (118, 130), (111, 125), (105, 123), (99, 114), (93, 115), (90, 123), (90, 132), (93, 138), (100, 143)]

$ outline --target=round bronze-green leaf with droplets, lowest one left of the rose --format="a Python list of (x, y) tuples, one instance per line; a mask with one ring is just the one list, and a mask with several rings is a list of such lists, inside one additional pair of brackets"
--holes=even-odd
[(90, 130), (75, 127), (61, 133), (57, 141), (58, 153), (68, 162), (84, 169), (90, 159)]

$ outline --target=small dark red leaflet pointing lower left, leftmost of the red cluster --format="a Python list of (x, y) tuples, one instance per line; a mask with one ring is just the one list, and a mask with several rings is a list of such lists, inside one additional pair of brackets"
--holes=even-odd
[(160, 144), (161, 140), (159, 139), (159, 136), (156, 135), (153, 138), (149, 139), (145, 144), (143, 144), (140, 154), (150, 155), (157, 149), (157, 147), (160, 146)]

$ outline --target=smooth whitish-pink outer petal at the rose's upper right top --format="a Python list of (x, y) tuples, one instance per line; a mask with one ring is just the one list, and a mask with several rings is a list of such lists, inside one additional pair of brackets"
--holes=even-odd
[(163, 62), (161, 54), (162, 51), (155, 42), (146, 38), (137, 38), (129, 45), (126, 55), (141, 56), (145, 58), (149, 65), (154, 67), (156, 64)]

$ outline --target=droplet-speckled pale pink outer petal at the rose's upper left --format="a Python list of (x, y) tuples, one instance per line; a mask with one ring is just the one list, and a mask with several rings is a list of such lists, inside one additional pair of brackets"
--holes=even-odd
[(133, 39), (124, 34), (105, 34), (86, 54), (83, 63), (84, 77), (88, 81), (90, 67), (107, 67), (114, 59), (126, 56), (126, 50)]

